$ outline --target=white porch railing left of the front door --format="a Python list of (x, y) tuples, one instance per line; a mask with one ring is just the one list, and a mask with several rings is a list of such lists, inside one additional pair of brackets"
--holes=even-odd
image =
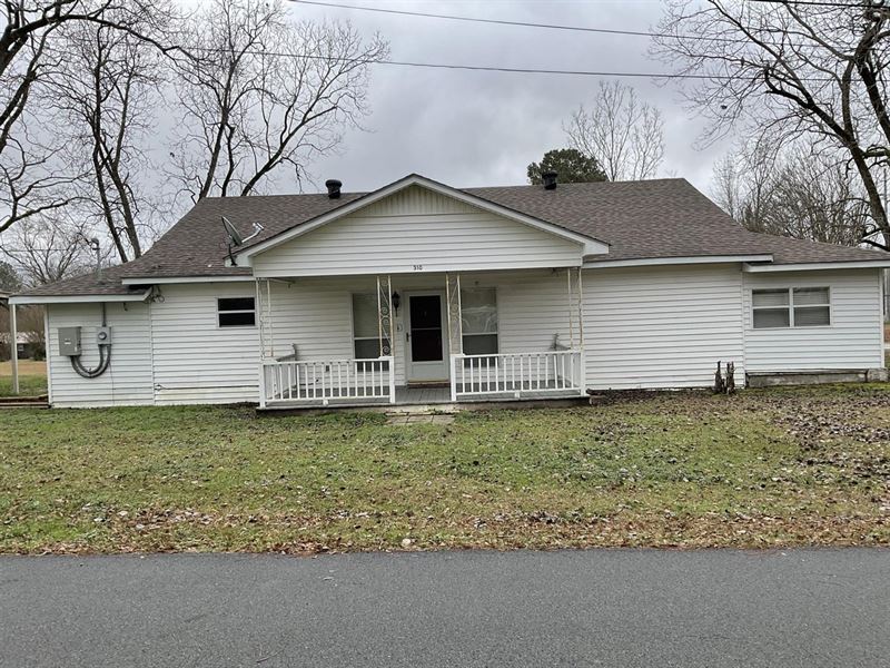
[(392, 356), (374, 360), (266, 361), (259, 369), (259, 405), (283, 402), (372, 400), (395, 403)]

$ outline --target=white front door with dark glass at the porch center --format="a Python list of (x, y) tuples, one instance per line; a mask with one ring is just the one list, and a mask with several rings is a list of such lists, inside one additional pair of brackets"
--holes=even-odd
[(408, 382), (445, 382), (448, 361), (445, 337), (445, 304), (442, 293), (407, 295), (406, 326)]

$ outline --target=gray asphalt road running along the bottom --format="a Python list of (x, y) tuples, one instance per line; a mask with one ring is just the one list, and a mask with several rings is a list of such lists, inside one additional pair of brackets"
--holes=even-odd
[(890, 666), (890, 550), (6, 557), (0, 665)]

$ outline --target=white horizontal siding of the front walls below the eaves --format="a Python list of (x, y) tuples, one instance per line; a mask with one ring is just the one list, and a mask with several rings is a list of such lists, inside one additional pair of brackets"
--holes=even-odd
[[(565, 269), (463, 273), (464, 291), (494, 291), (501, 353), (570, 345)], [(744, 372), (872, 369), (882, 365), (881, 285), (876, 269), (743, 274), (738, 265), (629, 267), (583, 272), (586, 387), (706, 387), (718, 361)], [(828, 326), (755, 330), (754, 289), (824, 288)], [(274, 282), (271, 323), (264, 331), (274, 356), (349, 360), (355, 356), (353, 295), (375, 294), (372, 275)], [(441, 291), (444, 274), (395, 275), (403, 296), (394, 341), (396, 383), (405, 383), (405, 295)], [(48, 306), (48, 353), (56, 406), (256, 402), (260, 360), (257, 326), (219, 327), (217, 299), (253, 297), (253, 283), (179, 284), (164, 301), (109, 304), (112, 357), (95, 380), (78, 376), (58, 354), (58, 328), (83, 327), (83, 363), (95, 366), (99, 304)], [(808, 301), (815, 293), (801, 293)], [(812, 298), (810, 298), (812, 297)], [(814, 304), (813, 304), (814, 305)], [(577, 322), (574, 331), (577, 341)], [(447, 338), (447, 328), (443, 333)]]

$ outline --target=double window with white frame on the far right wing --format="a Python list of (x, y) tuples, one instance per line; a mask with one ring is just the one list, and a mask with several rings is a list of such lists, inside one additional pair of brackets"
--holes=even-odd
[(827, 287), (755, 289), (751, 293), (754, 328), (822, 327), (831, 324)]

